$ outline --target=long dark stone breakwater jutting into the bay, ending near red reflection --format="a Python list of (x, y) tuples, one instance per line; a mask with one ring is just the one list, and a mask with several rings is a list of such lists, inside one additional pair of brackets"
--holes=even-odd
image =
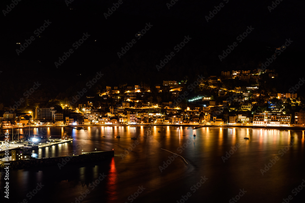
[(20, 170), (35, 167), (58, 166), (61, 169), (63, 166), (71, 164), (83, 164), (91, 162), (99, 162), (109, 159), (114, 156), (114, 151), (105, 152), (88, 152), (77, 156), (61, 156), (41, 159), (22, 159), (18, 161), (8, 161), (9, 165), (2, 163), (0, 169), (9, 166), (11, 170)]

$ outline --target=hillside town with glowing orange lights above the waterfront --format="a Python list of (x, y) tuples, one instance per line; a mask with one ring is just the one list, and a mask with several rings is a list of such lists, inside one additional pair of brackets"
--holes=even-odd
[[(274, 69), (222, 71), (219, 76), (149, 86), (106, 86), (95, 96), (31, 101), (22, 109), (0, 103), (1, 127), (11, 125), (185, 124), (304, 126), (304, 102), (294, 90), (277, 92)], [(300, 87), (300, 86), (299, 86)], [(297, 89), (295, 89), (297, 90)], [(25, 112), (24, 112), (25, 111)]]

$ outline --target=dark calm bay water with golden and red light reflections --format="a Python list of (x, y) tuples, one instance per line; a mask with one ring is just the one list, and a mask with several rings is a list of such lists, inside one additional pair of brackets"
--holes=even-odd
[[(33, 151), (39, 158), (112, 149), (115, 156), (100, 164), (11, 170), (9, 201), (4, 198), (5, 180), (1, 177), (4, 202), (305, 200), (301, 185), (305, 180), (304, 131), (94, 126), (84, 130), (36, 128), (31, 129), (33, 133), (74, 138), (73, 142)], [(119, 134), (120, 139), (116, 138)], [(34, 194), (37, 187), (40, 190)]]

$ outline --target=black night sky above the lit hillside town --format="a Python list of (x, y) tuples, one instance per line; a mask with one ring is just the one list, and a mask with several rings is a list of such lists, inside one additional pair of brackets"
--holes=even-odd
[[(282, 89), (289, 89), (302, 76), (303, 1), (278, 1), (274, 9), (272, 1), (121, 2), (20, 1), (6, 12), (12, 2), (2, 1), (0, 103), (4, 98), (18, 98), (36, 81), (41, 81), (42, 92), (57, 96), (69, 88), (81, 88), (97, 71), (105, 76), (98, 81), (99, 87), (106, 88), (124, 82), (154, 85), (180, 81), (186, 75), (193, 79), (198, 74), (254, 70), (289, 38), (293, 42), (268, 68), (276, 69)], [(119, 7), (106, 19), (104, 13), (113, 4)], [(213, 10), (216, 14), (207, 22)], [(51, 23), (41, 33), (35, 32), (45, 21)], [(136, 37), (146, 23), (152, 26)], [(254, 29), (239, 42), (236, 37), (247, 26)], [(75, 49), (83, 33), (90, 36)], [(174, 47), (185, 36), (191, 39), (176, 52)], [(31, 37), (34, 40), (18, 55), (16, 49)], [(136, 43), (119, 58), (117, 52), (134, 39)], [(234, 42), (238, 46), (220, 61), (219, 55)], [(69, 49), (73, 53), (56, 67), (55, 62)], [(158, 71), (156, 65), (173, 51), (175, 55)]]

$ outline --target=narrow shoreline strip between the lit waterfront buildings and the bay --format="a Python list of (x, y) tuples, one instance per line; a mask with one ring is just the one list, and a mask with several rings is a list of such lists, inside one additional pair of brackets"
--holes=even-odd
[[(30, 128), (64, 128), (64, 127), (85, 127), (85, 126), (148, 126), (148, 127), (154, 127), (154, 126), (177, 126), (177, 127), (199, 127), (199, 128), (204, 128), (204, 127), (211, 127), (211, 128), (256, 128), (256, 129), (277, 129), (277, 130), (300, 130), (300, 131), (305, 131), (305, 127), (296, 127), (296, 126), (246, 126), (246, 125), (197, 125), (197, 124), (90, 124), (90, 125), (63, 125), (63, 126), (54, 126), (54, 125), (46, 125), (46, 126), (30, 126)], [(14, 129), (18, 128), (18, 126), (13, 126)], [(29, 128), (29, 126), (19, 126), (19, 128)], [(70, 128), (70, 127), (68, 127)], [(199, 129), (197, 128), (197, 129)], [(2, 128), (2, 130), (11, 130), (12, 127), (9, 128)]]

